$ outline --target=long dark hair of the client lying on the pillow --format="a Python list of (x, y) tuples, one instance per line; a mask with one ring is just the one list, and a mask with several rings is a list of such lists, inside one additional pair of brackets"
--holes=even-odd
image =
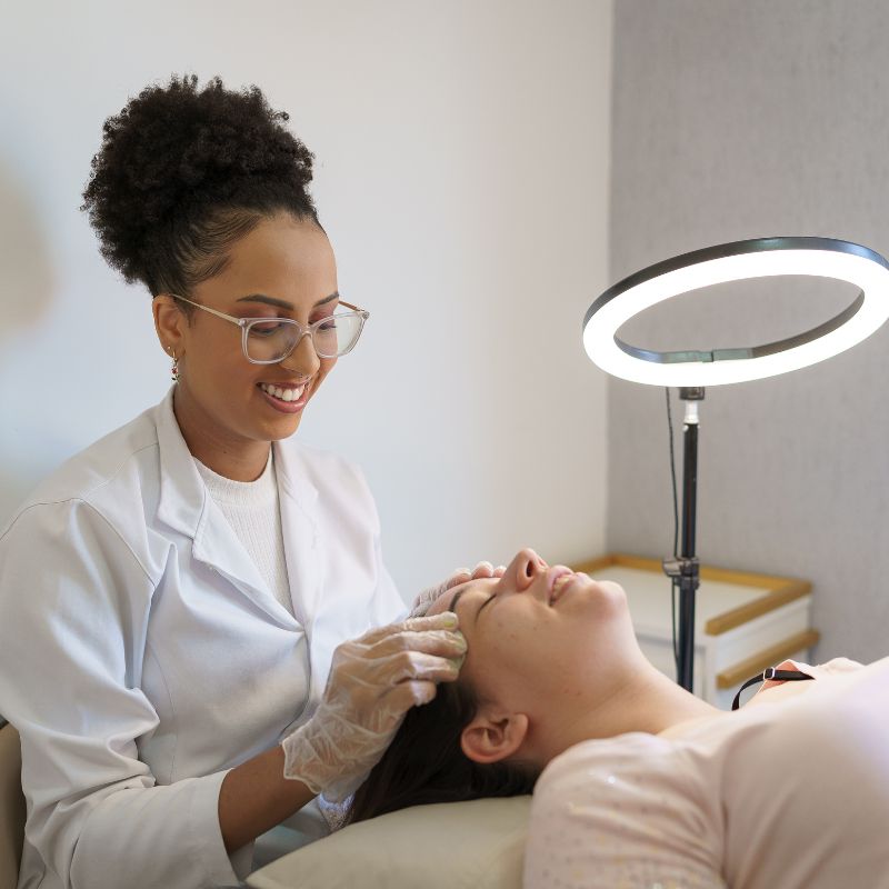
[(460, 747), (479, 699), (465, 681), (442, 682), (422, 707), (411, 708), (392, 743), (358, 789), (349, 822), (409, 806), (530, 793), (539, 769), (529, 762), (473, 762)]

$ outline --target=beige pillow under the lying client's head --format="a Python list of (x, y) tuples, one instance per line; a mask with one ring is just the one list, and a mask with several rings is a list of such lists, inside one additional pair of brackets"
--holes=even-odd
[(416, 806), (352, 825), (247, 878), (253, 889), (520, 889), (531, 797)]

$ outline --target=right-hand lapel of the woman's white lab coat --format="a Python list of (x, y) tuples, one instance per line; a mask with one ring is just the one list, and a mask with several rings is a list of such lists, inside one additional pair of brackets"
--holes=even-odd
[(287, 575), (293, 611), (311, 641), (323, 587), (324, 540), (318, 519), (318, 489), (293, 444), (274, 442)]

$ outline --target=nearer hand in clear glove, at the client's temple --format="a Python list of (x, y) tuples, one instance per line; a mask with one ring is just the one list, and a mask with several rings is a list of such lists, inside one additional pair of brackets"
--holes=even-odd
[(408, 619), (343, 642), (311, 719), (281, 741), (284, 777), (331, 802), (352, 793), (377, 765), (404, 713), (457, 678), (466, 640), (450, 611)]

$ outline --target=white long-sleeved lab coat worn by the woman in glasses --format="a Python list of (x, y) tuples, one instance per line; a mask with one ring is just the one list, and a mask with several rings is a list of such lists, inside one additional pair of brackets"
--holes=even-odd
[(250, 849), (222, 843), (226, 771), (308, 719), (339, 642), (404, 611), (361, 475), (289, 440), (274, 465), (294, 619), (208, 496), (172, 391), (0, 531), (20, 889), (237, 885)]

